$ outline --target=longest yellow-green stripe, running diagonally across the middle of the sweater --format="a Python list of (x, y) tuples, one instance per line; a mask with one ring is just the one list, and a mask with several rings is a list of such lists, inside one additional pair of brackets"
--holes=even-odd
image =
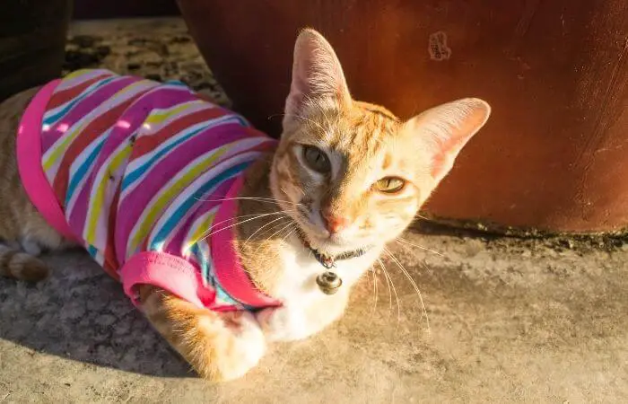
[(146, 212), (144, 217), (141, 218), (141, 223), (135, 233), (133, 234), (130, 242), (128, 243), (129, 251), (135, 251), (139, 243), (144, 240), (150, 232), (153, 224), (155, 223), (155, 216), (161, 214), (165, 206), (174, 198), (177, 198), (182, 189), (187, 187), (192, 181), (198, 178), (198, 175), (205, 171), (207, 167), (213, 164), (224, 152), (226, 147), (221, 147), (216, 152), (208, 156), (205, 160), (198, 162), (195, 167), (189, 169), (179, 180), (173, 183), (169, 189), (161, 191), (161, 196), (153, 203), (153, 206), (148, 206), (144, 211)]

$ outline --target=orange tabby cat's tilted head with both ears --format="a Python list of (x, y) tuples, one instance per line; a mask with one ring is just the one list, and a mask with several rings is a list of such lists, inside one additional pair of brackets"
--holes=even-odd
[(318, 250), (389, 242), (412, 222), (490, 110), (470, 98), (401, 121), (353, 100), (331, 45), (317, 31), (301, 31), (273, 195)]

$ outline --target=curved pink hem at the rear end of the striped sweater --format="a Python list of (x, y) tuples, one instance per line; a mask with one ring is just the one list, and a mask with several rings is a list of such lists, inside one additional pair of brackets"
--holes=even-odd
[(22, 185), (39, 214), (65, 238), (76, 240), (41, 167), (41, 121), (48, 101), (60, 82), (54, 80), (43, 86), (26, 107), (17, 132), (17, 165)]

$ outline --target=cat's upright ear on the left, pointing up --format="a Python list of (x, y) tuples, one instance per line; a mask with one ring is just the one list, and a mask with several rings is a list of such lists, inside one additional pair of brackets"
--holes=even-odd
[(318, 31), (301, 31), (294, 44), (292, 83), (283, 127), (298, 121), (308, 108), (334, 108), (350, 103), (343, 67), (334, 48)]

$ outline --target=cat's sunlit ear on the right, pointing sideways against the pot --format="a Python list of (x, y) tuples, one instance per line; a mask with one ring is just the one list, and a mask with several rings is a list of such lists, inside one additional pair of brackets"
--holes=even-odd
[(411, 136), (420, 136), (431, 155), (435, 184), (451, 170), (456, 157), (491, 115), (491, 106), (477, 98), (452, 101), (426, 110), (404, 124)]

